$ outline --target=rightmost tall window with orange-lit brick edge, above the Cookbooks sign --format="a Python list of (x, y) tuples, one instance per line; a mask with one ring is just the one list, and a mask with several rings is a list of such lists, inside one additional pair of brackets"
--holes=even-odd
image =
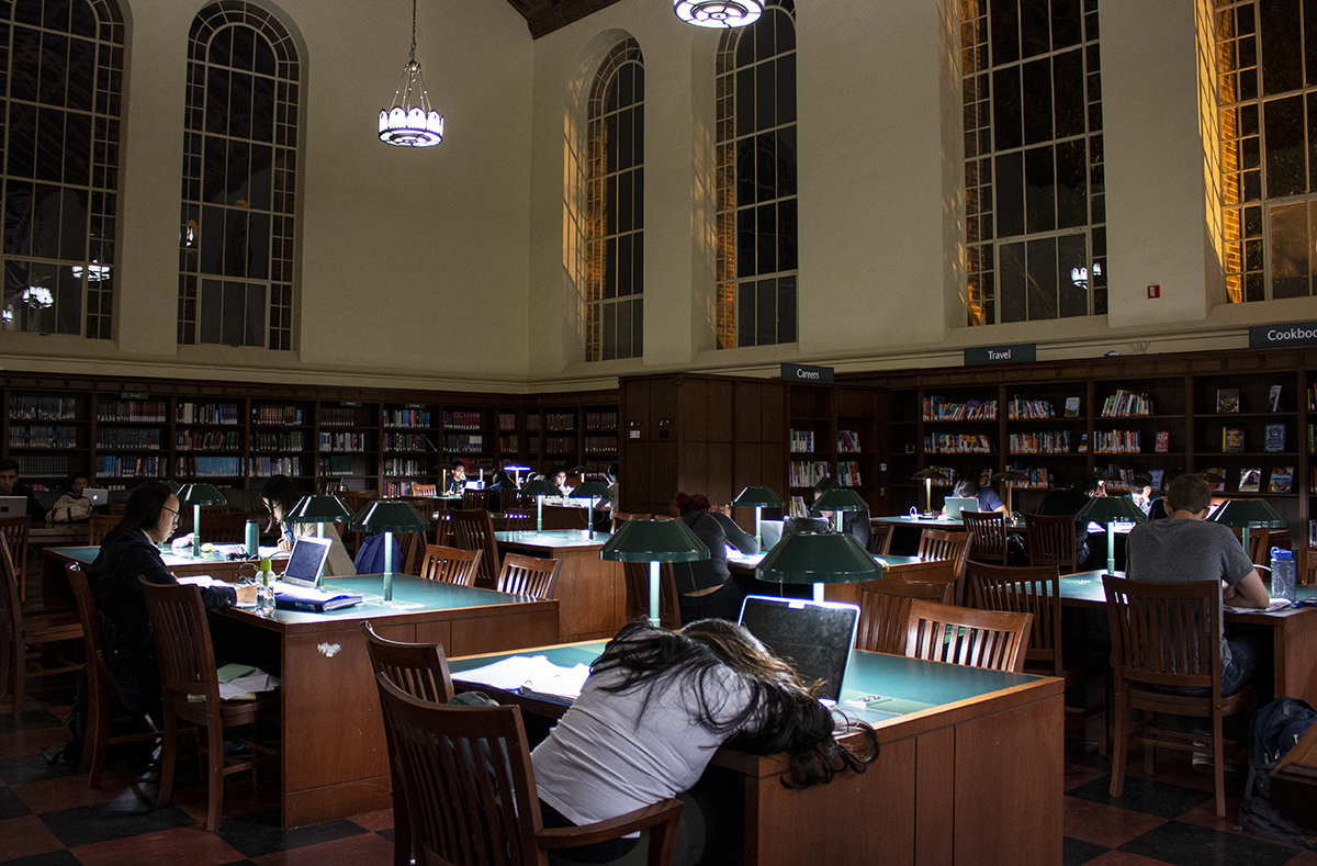
[(1217, 0), (1226, 291), (1313, 293), (1317, 4)]

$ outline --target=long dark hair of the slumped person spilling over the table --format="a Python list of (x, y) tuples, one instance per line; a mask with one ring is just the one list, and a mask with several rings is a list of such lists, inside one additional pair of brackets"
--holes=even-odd
[[(726, 698), (715, 673), (719, 667), (736, 671), (751, 692), (745, 707), (726, 719), (715, 717), (711, 709), (720, 708)], [(839, 725), (786, 662), (727, 620), (699, 620), (680, 632), (643, 620), (628, 623), (590, 670), (620, 674), (620, 682), (603, 687), (607, 692), (645, 688), (641, 712), (656, 690), (661, 695), (677, 686), (691, 719), (705, 730), (728, 734), (751, 725), (753, 730), (736, 733), (730, 745), (751, 754), (786, 753), (790, 773), (782, 784), (789, 788), (824, 784), (846, 770), (864, 773), (878, 757), (878, 736), (871, 725), (844, 719)], [(852, 732), (863, 733), (868, 742), (852, 750), (836, 741)]]

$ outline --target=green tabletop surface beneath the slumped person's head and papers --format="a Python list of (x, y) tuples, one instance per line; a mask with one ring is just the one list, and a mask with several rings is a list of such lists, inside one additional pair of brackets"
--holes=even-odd
[[(554, 665), (572, 667), (594, 662), (603, 651), (605, 644), (606, 641), (591, 641), (535, 651), (457, 658), (449, 659), (448, 666), (456, 680), (461, 680), (461, 673), (465, 670), (493, 665), (511, 655), (547, 655)], [(877, 724), (886, 719), (971, 700), (1038, 679), (1040, 678), (1029, 674), (1004, 674), (980, 667), (851, 650), (851, 663), (847, 666), (846, 679), (842, 683), (842, 700), (838, 708)], [(873, 695), (878, 698), (867, 708), (846, 703)]]

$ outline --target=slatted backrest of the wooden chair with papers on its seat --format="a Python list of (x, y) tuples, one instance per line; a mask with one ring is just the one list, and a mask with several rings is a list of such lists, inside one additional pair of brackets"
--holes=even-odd
[(211, 707), (213, 719), (209, 724), (220, 724), (220, 680), (202, 590), (151, 583), (144, 576), (138, 576), (137, 582), (146, 598), (151, 630), (155, 632), (155, 657), (165, 700), (199, 696)]

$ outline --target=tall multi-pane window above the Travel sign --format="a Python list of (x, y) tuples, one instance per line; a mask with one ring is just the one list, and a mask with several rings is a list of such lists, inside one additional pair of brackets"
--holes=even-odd
[(1097, 0), (960, 0), (971, 325), (1106, 313)]

